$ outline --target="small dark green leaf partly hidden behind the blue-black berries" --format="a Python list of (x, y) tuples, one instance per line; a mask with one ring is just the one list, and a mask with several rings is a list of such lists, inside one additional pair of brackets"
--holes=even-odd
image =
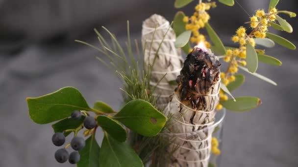
[[(74, 120), (73, 118), (65, 118), (52, 125), (54, 132), (63, 132), (67, 129), (75, 129), (84, 122), (85, 117), (82, 116), (79, 120)], [(71, 132), (64, 133), (64, 136), (68, 136)]]

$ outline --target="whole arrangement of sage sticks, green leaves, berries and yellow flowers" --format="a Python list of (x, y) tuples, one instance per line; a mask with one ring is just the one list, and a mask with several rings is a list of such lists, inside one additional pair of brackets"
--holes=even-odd
[[(181, 8), (191, 1), (175, 0), (174, 6)], [(277, 66), (281, 62), (258, 46), (278, 43), (296, 49), (292, 42), (269, 32), (270, 28), (293, 32), (279, 15), (296, 14), (277, 10), (278, 1), (271, 0), (266, 12), (256, 10), (246, 22), (248, 26), (236, 30), (231, 40), (238, 47), (224, 46), (211, 27), (208, 10), (215, 8), (216, 2), (210, 0), (199, 0), (190, 17), (177, 12), (171, 23), (152, 15), (143, 22), (142, 48), (137, 40), (131, 42), (128, 21), (125, 47), (105, 27), (110, 42), (95, 29), (101, 47), (77, 42), (108, 58), (106, 62), (97, 57), (123, 81), (123, 107), (115, 111), (99, 101), (90, 107), (76, 88), (63, 87), (27, 98), (29, 116), (37, 124), (53, 123), (52, 143), (61, 146), (54, 153), (59, 163), (69, 161), (77, 167), (214, 167), (216, 162), (210, 156), (221, 154), (214, 135), (219, 128), (216, 113), (223, 112), (222, 108), (248, 111), (261, 104), (259, 98), (234, 98), (230, 93), (244, 83), (238, 69), (276, 85), (256, 71), (258, 62)], [(219, 2), (234, 5), (233, 0)], [(225, 70), (221, 69), (224, 62)], [(95, 138), (99, 127), (104, 134), (100, 146)], [(65, 143), (69, 136), (71, 142)]]

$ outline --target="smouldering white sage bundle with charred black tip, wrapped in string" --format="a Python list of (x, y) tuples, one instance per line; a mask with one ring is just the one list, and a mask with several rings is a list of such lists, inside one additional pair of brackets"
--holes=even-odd
[(176, 137), (169, 167), (208, 167), (221, 87), (220, 65), (216, 56), (199, 46), (187, 56), (165, 110), (175, 116), (174, 125), (163, 133)]

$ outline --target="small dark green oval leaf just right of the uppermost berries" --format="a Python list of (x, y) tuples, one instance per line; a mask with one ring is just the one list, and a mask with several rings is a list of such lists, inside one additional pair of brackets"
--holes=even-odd
[(107, 116), (100, 115), (97, 117), (97, 123), (104, 131), (106, 131), (110, 136), (112, 136), (118, 142), (126, 141), (127, 139), (126, 130), (117, 121)]

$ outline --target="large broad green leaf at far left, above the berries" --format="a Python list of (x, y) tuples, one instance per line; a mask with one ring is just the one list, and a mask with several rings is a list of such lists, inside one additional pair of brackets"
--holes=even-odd
[(29, 115), (37, 124), (48, 124), (69, 117), (75, 110), (90, 108), (81, 93), (74, 87), (64, 87), (53, 93), (27, 98)]

